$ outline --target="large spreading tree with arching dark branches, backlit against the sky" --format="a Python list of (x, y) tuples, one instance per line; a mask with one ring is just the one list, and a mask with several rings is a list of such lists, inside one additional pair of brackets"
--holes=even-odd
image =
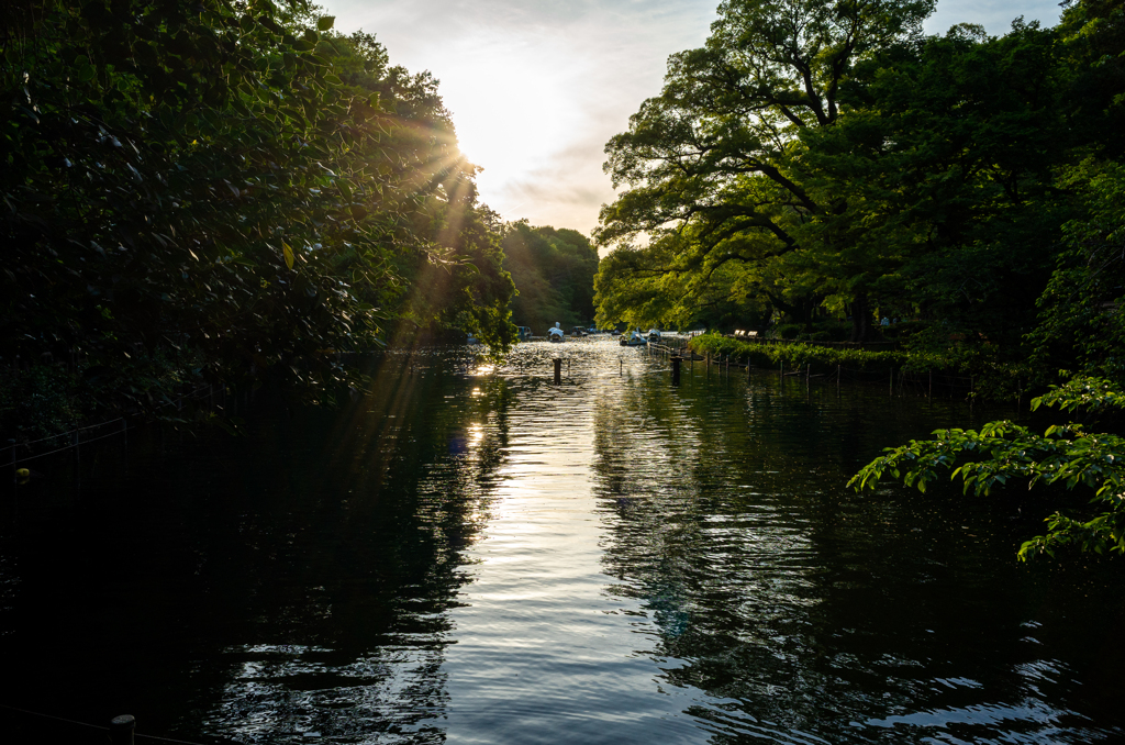
[[(677, 233), (690, 240), (669, 271), (704, 276), (728, 262), (800, 264), (795, 254), (811, 248), (801, 227), (837, 207), (794, 173), (799, 137), (832, 127), (856, 62), (917, 36), (932, 9), (927, 0), (722, 3), (706, 46), (673, 55), (663, 93), (606, 145), (606, 170), (628, 188), (603, 208), (598, 243)], [(839, 279), (853, 335), (866, 338), (870, 284)]]

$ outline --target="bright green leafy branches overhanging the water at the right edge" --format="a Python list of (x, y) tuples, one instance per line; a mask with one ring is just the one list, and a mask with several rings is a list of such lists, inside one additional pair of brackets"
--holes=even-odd
[[(1076, 377), (1032, 402), (1033, 409), (1058, 406), (1063, 411), (1119, 409), (1123, 395), (1109, 380)], [(1092, 491), (1100, 514), (1074, 519), (1055, 512), (1047, 518), (1047, 532), (1026, 541), (1018, 556), (1026, 560), (1054, 556), (1064, 546), (1082, 551), (1125, 553), (1125, 438), (1087, 432), (1079, 423), (1047, 428), (1037, 436), (1009, 421), (984, 424), (980, 431), (937, 430), (933, 440), (911, 440), (864, 466), (848, 482), (857, 491), (874, 488), (890, 474), (907, 486), (925, 492), (942, 470), (961, 478), (965, 493), (988, 496), (992, 488), (1012, 479), (1061, 484), (1068, 490), (1082, 486)]]

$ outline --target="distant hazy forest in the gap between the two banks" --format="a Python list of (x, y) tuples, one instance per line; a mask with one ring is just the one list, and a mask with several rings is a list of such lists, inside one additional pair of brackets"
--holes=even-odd
[(518, 290), (512, 300), (518, 325), (544, 334), (556, 323), (570, 329), (593, 322), (597, 251), (588, 237), (521, 221), (505, 227), (502, 246)]

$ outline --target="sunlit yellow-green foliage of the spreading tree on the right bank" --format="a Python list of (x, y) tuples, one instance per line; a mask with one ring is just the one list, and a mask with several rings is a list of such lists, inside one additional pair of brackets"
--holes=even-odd
[[(916, 37), (932, 8), (893, 0), (721, 5), (706, 46), (673, 55), (662, 95), (608, 144), (606, 169), (614, 186), (628, 188), (603, 208), (597, 241), (621, 250), (647, 234), (660, 244), (641, 250), (652, 253), (646, 285), (650, 294), (667, 291), (668, 312), (680, 318), (723, 304), (758, 315), (755, 306), (768, 304), (807, 321), (810, 306), (829, 302), (850, 306), (856, 340), (876, 334), (868, 295), (884, 268), (861, 255), (866, 249), (838, 219), (810, 227), (839, 213), (839, 196), (802, 180), (800, 143), (838, 126), (857, 61)], [(727, 277), (717, 277), (729, 264)], [(665, 287), (657, 272), (669, 277)], [(600, 284), (602, 302), (628, 281), (614, 271)]]

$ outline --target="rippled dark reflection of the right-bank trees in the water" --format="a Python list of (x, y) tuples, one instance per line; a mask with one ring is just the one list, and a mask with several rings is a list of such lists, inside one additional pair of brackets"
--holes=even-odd
[[(1042, 650), (1019, 640), (1026, 583), (1010, 556), (981, 540), (919, 550), (911, 501), (845, 492), (857, 454), (929, 423), (800, 393), (647, 378), (595, 409), (611, 592), (658, 629), (648, 654), (678, 661), (667, 682), (723, 701), (690, 713), (716, 742), (945, 731), (899, 716), (926, 711), (966, 742), (1104, 735), (1059, 727), (1066, 709), (1037, 685), (1074, 684), (1024, 672)], [(947, 531), (952, 511), (920, 524)]]

